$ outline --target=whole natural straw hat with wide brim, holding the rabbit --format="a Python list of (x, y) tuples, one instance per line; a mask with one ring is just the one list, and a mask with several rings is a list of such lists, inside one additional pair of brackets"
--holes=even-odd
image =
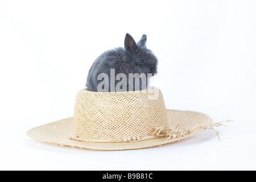
[(129, 150), (186, 139), (220, 125), (207, 114), (166, 109), (158, 88), (105, 93), (82, 89), (73, 117), (35, 127), (27, 135), (61, 146)]

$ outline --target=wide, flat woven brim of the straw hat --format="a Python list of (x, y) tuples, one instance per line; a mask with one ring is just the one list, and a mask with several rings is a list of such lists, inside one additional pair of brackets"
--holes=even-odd
[[(212, 123), (212, 118), (207, 114), (203, 114), (196, 111), (182, 111), (182, 110), (170, 110), (167, 109), (168, 121), (172, 127), (182, 127), (186, 130), (195, 129), (196, 127), (206, 126)], [(59, 144), (61, 146), (71, 146), (80, 148), (89, 148), (93, 150), (131, 150), (138, 148), (147, 148), (153, 146), (160, 146), (175, 142), (177, 140), (183, 140), (199, 134), (204, 128), (194, 130), (192, 133), (185, 134), (183, 137), (170, 138), (159, 137), (147, 140), (140, 140), (136, 142), (80, 142), (72, 140), (69, 136), (73, 133), (73, 117), (67, 119), (61, 119), (30, 129), (27, 131), (27, 135), (34, 139), (41, 140), (42, 142), (49, 142), (52, 144)]]

